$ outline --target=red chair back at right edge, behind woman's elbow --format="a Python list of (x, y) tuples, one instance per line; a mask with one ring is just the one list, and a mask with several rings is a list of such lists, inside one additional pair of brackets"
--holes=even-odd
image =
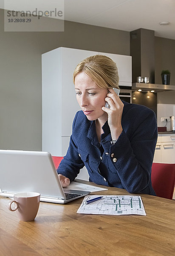
[(172, 199), (175, 188), (175, 163), (153, 163), (151, 181), (157, 196)]

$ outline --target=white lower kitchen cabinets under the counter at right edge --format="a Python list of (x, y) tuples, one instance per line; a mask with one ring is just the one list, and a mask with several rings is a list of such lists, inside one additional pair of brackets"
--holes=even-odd
[(159, 134), (155, 147), (154, 163), (175, 163), (175, 135)]

